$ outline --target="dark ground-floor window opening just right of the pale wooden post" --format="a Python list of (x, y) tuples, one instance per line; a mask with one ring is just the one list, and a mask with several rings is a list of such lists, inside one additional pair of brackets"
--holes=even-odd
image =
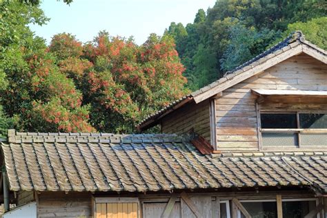
[(316, 201), (284, 201), (282, 206), (283, 217), (303, 218), (315, 209)]

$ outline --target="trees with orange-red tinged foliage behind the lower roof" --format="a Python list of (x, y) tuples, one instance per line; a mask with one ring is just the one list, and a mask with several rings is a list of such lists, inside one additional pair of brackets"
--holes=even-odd
[(21, 52), (21, 78), (8, 74), (2, 93), (21, 130), (132, 132), (143, 117), (187, 92), (170, 37), (152, 34), (138, 46), (100, 32), (83, 44), (63, 33), (48, 48)]

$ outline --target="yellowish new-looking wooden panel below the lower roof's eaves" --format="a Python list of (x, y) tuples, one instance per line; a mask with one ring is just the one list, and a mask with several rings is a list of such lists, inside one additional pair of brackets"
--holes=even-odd
[(95, 198), (95, 218), (139, 217), (139, 201), (134, 197)]

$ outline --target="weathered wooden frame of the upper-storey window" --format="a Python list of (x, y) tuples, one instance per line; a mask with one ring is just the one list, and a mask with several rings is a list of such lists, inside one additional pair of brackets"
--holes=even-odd
[[(317, 146), (303, 146), (301, 145), (301, 133), (312, 133), (312, 134), (327, 134), (327, 128), (300, 128), (299, 115), (300, 114), (326, 114), (327, 110), (257, 110), (258, 115), (258, 137), (259, 137), (259, 149), (260, 150), (271, 150), (272, 146), (264, 146), (262, 140), (263, 132), (285, 132), (285, 133), (296, 133), (298, 146), (283, 146), (282, 148), (313, 148)], [(261, 115), (262, 114), (295, 114), (297, 117), (297, 128), (261, 128)], [(318, 146), (321, 147), (321, 146)]]

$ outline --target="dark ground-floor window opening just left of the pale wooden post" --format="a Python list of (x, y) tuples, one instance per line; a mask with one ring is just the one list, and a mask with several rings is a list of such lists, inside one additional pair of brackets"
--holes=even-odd
[[(241, 202), (253, 218), (277, 218), (276, 202)], [(245, 217), (243, 214), (241, 217)]]

